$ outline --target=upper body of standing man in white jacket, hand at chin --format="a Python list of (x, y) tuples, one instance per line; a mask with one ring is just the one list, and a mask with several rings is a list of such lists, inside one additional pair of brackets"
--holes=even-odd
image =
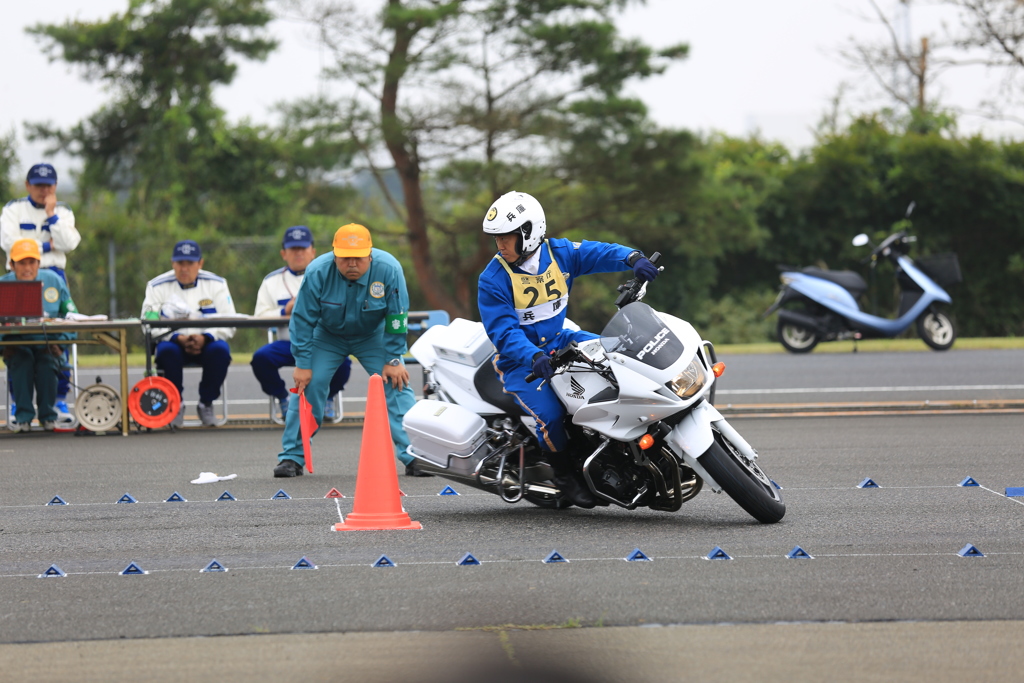
[(0, 248), (10, 270), (10, 248), (18, 240), (31, 238), (39, 243), (43, 258), (40, 268), (49, 268), (68, 282), (68, 252), (82, 241), (75, 227), (75, 213), (57, 202), (57, 172), (49, 164), (36, 164), (25, 181), (28, 197), (11, 200), (0, 214)]

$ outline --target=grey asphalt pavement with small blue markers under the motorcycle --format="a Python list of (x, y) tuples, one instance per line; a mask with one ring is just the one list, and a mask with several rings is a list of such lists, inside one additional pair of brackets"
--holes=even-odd
[[(720, 404), (774, 388), (1024, 393), (1021, 351), (723, 360)], [(354, 374), (346, 404), (360, 386)], [(272, 478), (280, 430), (259, 425), (5, 434), (0, 671), (457, 680), (482, 660), (499, 680), (488, 667), (534, 675), (554, 659), (594, 681), (1019, 673), (1007, 648), (1024, 624), (1024, 499), (1005, 494), (1024, 486), (1024, 416), (731, 420), (782, 486), (778, 524), (710, 492), (677, 513), (551, 512), (400, 476), (422, 530), (333, 531), (353, 505), (358, 424), (323, 430), (316, 474), (295, 479)], [(238, 476), (190, 484), (203, 471)], [(866, 478), (879, 487), (858, 487)], [(237, 500), (217, 500), (225, 490)], [(185, 501), (166, 502), (174, 493)], [(125, 494), (138, 502), (118, 504)], [(798, 546), (810, 557), (787, 558)], [(731, 559), (708, 559), (716, 548)], [(635, 549), (650, 561), (626, 561)], [(568, 562), (543, 562), (553, 550)], [(459, 565), (466, 553), (479, 564)], [(374, 566), (381, 556), (394, 566)], [(302, 558), (315, 568), (292, 568)], [(227, 571), (201, 571), (214, 559)], [(131, 563), (145, 573), (124, 575)], [(39, 578), (51, 566), (67, 575)]]

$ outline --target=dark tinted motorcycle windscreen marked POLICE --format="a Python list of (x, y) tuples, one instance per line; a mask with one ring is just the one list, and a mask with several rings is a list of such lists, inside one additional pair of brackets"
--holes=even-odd
[(622, 353), (665, 370), (683, 354), (683, 341), (642, 301), (623, 306), (601, 332), (605, 353)]

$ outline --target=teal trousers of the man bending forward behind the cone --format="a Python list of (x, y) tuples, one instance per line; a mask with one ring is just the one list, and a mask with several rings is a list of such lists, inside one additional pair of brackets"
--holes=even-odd
[[(348, 341), (338, 344), (333, 348), (316, 347), (312, 356), (313, 377), (306, 386), (306, 400), (312, 408), (313, 416), (316, 418), (317, 431), (324, 424), (324, 407), (327, 404), (328, 389), (331, 386), (331, 378), (335, 372), (345, 361), (349, 355), (354, 355), (368, 375), (380, 375), (384, 361), (389, 358), (384, 357), (384, 344), (380, 337), (371, 337), (356, 341)], [(413, 408), (416, 402), (416, 394), (413, 387), (407, 385), (404, 389), (395, 389), (390, 382), (384, 382), (384, 397), (387, 399), (388, 422), (391, 426), (391, 441), (394, 443), (394, 453), (403, 465), (413, 461), (413, 457), (406, 453), (409, 446), (409, 436), (401, 426), (401, 419), (406, 413)], [(279, 460), (294, 460), (301, 464), (305, 463), (302, 455), (302, 434), (299, 431), (299, 400), (293, 397), (288, 401), (288, 415), (285, 417), (285, 433), (281, 437), (281, 453)]]

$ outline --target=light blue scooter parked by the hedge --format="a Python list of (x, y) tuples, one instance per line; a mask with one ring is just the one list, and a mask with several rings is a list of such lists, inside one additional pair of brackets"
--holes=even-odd
[[(787, 351), (807, 353), (819, 341), (895, 337), (916, 322), (918, 334), (937, 351), (953, 345), (956, 331), (949, 314), (952, 302), (943, 287), (961, 282), (955, 254), (943, 254), (914, 262), (907, 252), (916, 238), (905, 230), (890, 234), (871, 250), (873, 268), (879, 257), (896, 266), (899, 311), (895, 318), (871, 315), (860, 309), (857, 298), (867, 284), (852, 270), (822, 270), (814, 266), (785, 269), (782, 288), (765, 317), (778, 311), (778, 340)], [(853, 239), (854, 247), (869, 244), (866, 234)], [(780, 266), (782, 267), (782, 266)]]

